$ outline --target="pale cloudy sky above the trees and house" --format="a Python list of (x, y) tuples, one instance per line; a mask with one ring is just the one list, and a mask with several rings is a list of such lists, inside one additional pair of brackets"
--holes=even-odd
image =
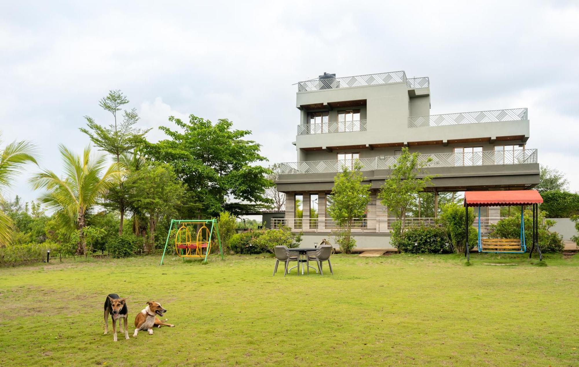
[[(579, 190), (579, 2), (26, 2), (0, 0), (0, 131), (89, 144), (84, 115), (121, 89), (142, 127), (189, 113), (253, 131), (272, 162), (296, 159), (293, 85), (406, 71), (430, 76), (431, 113), (529, 108), (528, 148)], [(3, 145), (2, 145), (3, 146)], [(35, 199), (26, 179), (9, 197)]]

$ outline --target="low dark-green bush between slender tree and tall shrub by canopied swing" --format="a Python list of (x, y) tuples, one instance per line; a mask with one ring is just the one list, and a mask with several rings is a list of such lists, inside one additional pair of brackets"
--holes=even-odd
[(395, 247), (401, 252), (414, 254), (450, 254), (453, 252), (442, 227), (409, 227), (404, 231), (404, 236), (397, 238), (396, 242)]

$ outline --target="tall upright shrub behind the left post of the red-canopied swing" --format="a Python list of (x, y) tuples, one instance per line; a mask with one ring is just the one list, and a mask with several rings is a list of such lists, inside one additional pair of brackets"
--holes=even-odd
[[(438, 223), (444, 229), (446, 238), (453, 246), (457, 254), (464, 252), (464, 236), (466, 232), (465, 210), (461, 204), (448, 203), (442, 205), (442, 211)], [(472, 226), (474, 222), (474, 209), (468, 208), (468, 244), (472, 247), (478, 243), (478, 230)]]

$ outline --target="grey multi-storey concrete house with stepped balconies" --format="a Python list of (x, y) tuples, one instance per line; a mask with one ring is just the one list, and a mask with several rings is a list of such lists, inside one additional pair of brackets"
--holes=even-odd
[[(285, 218), (272, 225), (302, 230), (305, 245), (328, 237), (334, 228), (327, 215), (334, 176), (359, 159), (372, 200), (356, 223), (358, 247), (388, 247), (391, 221), (376, 193), (402, 146), (432, 158), (428, 173), (436, 177), (428, 189), (435, 195), (538, 184), (537, 150), (526, 146), (526, 108), (431, 115), (430, 107), (430, 80), (406, 78), (404, 71), (345, 78), (324, 73), (299, 82), (296, 162), (280, 164), (276, 184), (287, 194)], [(490, 209), (483, 216), (499, 214)]]

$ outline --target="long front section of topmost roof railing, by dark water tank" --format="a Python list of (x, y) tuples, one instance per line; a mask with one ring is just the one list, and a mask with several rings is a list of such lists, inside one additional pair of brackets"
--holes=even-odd
[(368, 85), (400, 83), (406, 80), (404, 71), (379, 74), (345, 76), (343, 78), (312, 79), (298, 82), (298, 91), (313, 91), (336, 88), (362, 87)]

